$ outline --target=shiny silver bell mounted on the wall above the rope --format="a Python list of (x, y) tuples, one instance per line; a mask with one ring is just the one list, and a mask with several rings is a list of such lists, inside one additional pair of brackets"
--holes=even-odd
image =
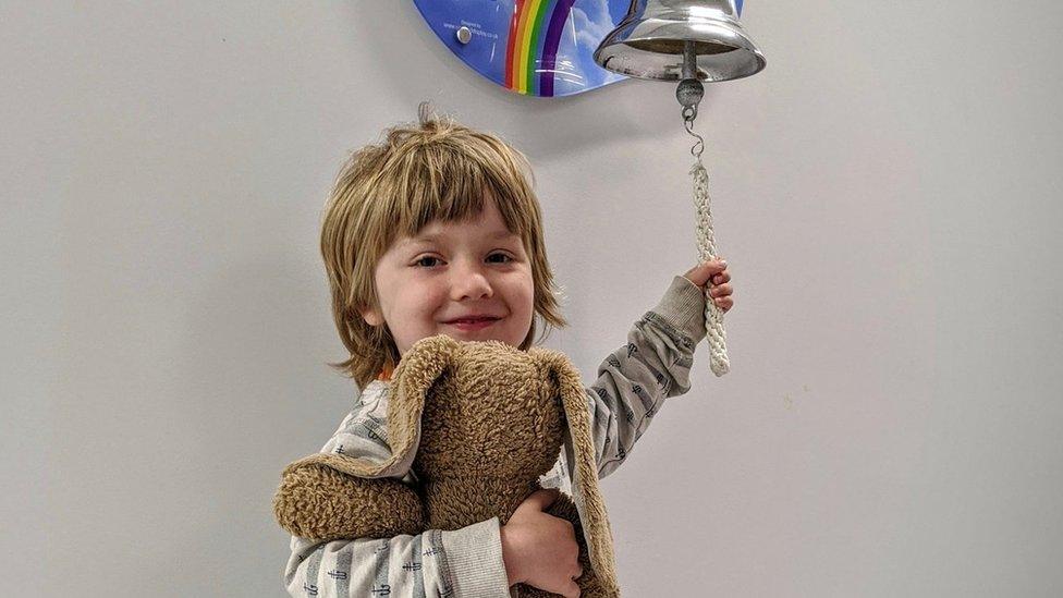
[(696, 78), (708, 82), (747, 77), (767, 64), (738, 23), (735, 0), (632, 0), (627, 16), (595, 51), (595, 62), (659, 81), (692, 78), (693, 64)]

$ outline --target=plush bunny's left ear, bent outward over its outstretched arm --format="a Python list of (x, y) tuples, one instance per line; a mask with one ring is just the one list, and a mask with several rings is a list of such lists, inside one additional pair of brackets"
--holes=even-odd
[(327, 465), (357, 477), (402, 477), (413, 465), (420, 444), (420, 414), (425, 395), (443, 374), (457, 341), (439, 334), (414, 343), (399, 362), (388, 399), (388, 444), (391, 459), (383, 462), (344, 454), (316, 453), (284, 468), (284, 474), (306, 465)]

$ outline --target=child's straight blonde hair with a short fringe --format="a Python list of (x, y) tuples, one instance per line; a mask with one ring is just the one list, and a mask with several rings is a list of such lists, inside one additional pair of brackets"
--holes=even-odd
[[(379, 145), (354, 151), (337, 175), (321, 223), (321, 256), (332, 293), (332, 318), (350, 357), (330, 364), (359, 388), (399, 363), (387, 325), (369, 326), (362, 310), (379, 308), (374, 271), (399, 236), (435, 220), (463, 221), (480, 212), (485, 194), (510, 232), (520, 233), (532, 265), (535, 314), (567, 325), (547, 260), (539, 202), (527, 158), (490, 133), (438, 119), (426, 105), (417, 125), (388, 129)], [(520, 349), (532, 345), (535, 318)], [(541, 339), (540, 339), (541, 340)]]

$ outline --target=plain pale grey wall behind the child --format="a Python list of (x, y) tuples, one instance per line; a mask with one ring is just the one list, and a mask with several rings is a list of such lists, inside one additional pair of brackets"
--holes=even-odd
[[(709, 86), (731, 374), (603, 480), (626, 596), (1059, 596), (1056, 2), (748, 2)], [(0, 7), (4, 593), (282, 596), (270, 500), (353, 385), (318, 255), (430, 99), (524, 150), (595, 368), (694, 265), (673, 87), (503, 90), (412, 2)]]

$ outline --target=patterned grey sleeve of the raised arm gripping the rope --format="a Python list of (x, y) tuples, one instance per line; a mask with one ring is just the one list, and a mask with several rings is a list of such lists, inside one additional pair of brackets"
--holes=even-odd
[(704, 338), (704, 291), (676, 276), (587, 388), (599, 478), (623, 463), (664, 399), (691, 389), (694, 347)]

